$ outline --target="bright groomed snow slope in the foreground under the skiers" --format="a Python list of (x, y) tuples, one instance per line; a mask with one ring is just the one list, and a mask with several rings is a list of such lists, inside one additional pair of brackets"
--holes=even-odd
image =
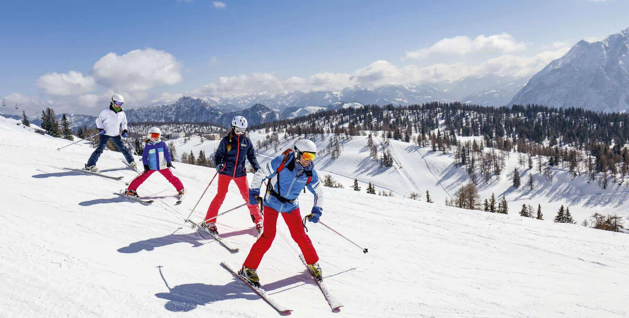
[[(175, 164), (188, 189), (159, 175), (138, 192), (152, 206), (122, 200), (135, 173), (120, 153), (98, 162), (107, 180), (79, 167), (91, 153), (0, 118), (0, 309), (6, 317), (277, 317), (220, 266), (242, 263), (255, 240), (246, 209), (219, 219), (228, 253), (182, 221), (214, 171)], [(216, 182), (216, 181), (214, 181)], [(192, 214), (200, 220), (216, 184)], [(368, 254), (309, 224), (328, 287), (348, 317), (618, 317), (629, 314), (626, 234), (465, 211), (440, 204), (327, 189), (321, 217)], [(303, 213), (312, 196), (301, 199)], [(233, 184), (222, 211), (241, 204)], [(374, 231), (377, 235), (374, 235)], [(333, 317), (298, 258), (282, 221), (260, 265), (262, 286), (294, 317)]]

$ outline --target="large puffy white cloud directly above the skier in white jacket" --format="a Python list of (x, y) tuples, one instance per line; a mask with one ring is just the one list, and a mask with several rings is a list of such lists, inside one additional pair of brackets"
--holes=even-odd
[(125, 55), (109, 53), (101, 57), (92, 74), (99, 84), (119, 90), (148, 90), (157, 85), (181, 82), (181, 63), (170, 53), (147, 48)]

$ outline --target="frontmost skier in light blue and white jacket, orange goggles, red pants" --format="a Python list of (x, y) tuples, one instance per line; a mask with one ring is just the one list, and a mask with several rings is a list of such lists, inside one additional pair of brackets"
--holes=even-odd
[(310, 222), (319, 222), (323, 209), (323, 187), (312, 162), (316, 155), (316, 145), (310, 140), (299, 140), (295, 143), (294, 151), (287, 150), (267, 163), (253, 176), (249, 190), (249, 202), (254, 204), (260, 199), (260, 187), (265, 179), (267, 196), (264, 199), (264, 232), (253, 244), (240, 275), (247, 278), (253, 285), (258, 285), (260, 278), (257, 268), (262, 256), (270, 248), (276, 235), (277, 216), (282, 214), (284, 222), (291, 232), (291, 237), (299, 245), (309, 270), (317, 280), (323, 280), (321, 268), (317, 264), (315, 247), (304, 231), (299, 214), (299, 192), (308, 187), (315, 195), (315, 204), (311, 214), (306, 216)]

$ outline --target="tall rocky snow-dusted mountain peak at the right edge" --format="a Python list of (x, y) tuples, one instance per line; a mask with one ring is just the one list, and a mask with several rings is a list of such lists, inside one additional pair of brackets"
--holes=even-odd
[(581, 40), (550, 62), (509, 104), (629, 110), (629, 28), (598, 41)]

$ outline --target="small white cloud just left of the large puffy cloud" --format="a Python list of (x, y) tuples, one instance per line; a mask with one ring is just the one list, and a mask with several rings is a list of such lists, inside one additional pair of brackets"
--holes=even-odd
[(48, 94), (71, 96), (91, 92), (96, 82), (91, 76), (83, 76), (81, 72), (71, 70), (67, 74), (47, 73), (37, 80), (37, 85)]

